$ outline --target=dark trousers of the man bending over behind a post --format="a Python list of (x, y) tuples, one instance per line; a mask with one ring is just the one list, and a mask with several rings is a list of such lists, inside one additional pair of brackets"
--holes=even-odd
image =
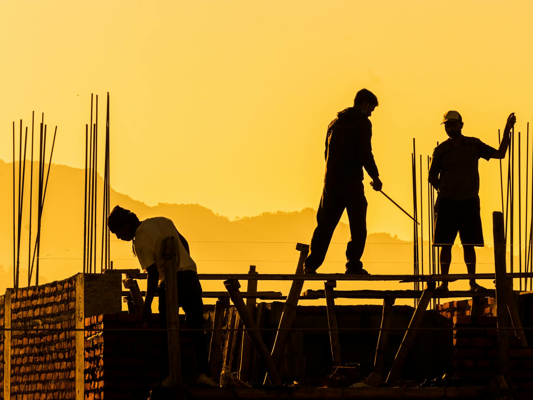
[[(157, 287), (159, 295), (159, 321), (166, 327), (165, 283)], [(191, 329), (204, 329), (204, 303), (201, 299), (201, 285), (195, 271), (177, 272), (177, 303), (185, 312), (185, 324)], [(195, 349), (198, 373), (211, 375), (207, 361), (207, 341), (203, 331), (191, 332)], [(182, 366), (186, 368), (187, 366)]]

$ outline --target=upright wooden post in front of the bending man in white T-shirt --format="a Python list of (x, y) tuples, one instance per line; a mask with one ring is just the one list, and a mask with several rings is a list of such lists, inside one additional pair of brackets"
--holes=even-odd
[(177, 266), (180, 265), (180, 252), (174, 236), (166, 237), (162, 244), (165, 262), (165, 287), (168, 339), (168, 371), (173, 383), (181, 383), (181, 348), (179, 304), (177, 303)]

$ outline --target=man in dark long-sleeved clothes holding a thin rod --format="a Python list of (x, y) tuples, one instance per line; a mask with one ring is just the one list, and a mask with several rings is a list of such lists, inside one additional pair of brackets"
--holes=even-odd
[(363, 167), (373, 189), (382, 182), (372, 154), (372, 123), (368, 119), (378, 105), (377, 97), (367, 89), (356, 94), (348, 107), (329, 124), (326, 134), (326, 172), (324, 189), (317, 212), (317, 227), (311, 238), (310, 253), (304, 262), (304, 274), (314, 274), (324, 262), (333, 232), (344, 209), (348, 212), (351, 238), (346, 247), (346, 274), (368, 274), (361, 256), (367, 236), (367, 201), (362, 183)]

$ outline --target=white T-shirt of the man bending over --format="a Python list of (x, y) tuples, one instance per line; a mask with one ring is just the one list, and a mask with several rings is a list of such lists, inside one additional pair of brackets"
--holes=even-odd
[(165, 282), (165, 273), (167, 272), (165, 271), (161, 245), (164, 239), (169, 236), (175, 237), (180, 253), (180, 264), (179, 266), (174, 266), (174, 271), (193, 270), (196, 272), (196, 263), (183, 247), (174, 223), (168, 218), (155, 217), (142, 221), (141, 225), (135, 230), (133, 239), (133, 247), (142, 269), (146, 270), (155, 263), (159, 272), (159, 283)]

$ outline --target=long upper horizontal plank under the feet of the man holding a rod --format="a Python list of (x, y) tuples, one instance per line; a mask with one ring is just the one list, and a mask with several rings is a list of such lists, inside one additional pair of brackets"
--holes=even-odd
[[(516, 272), (508, 274), (512, 278), (533, 278), (531, 272)], [(146, 279), (147, 274), (132, 274), (135, 279)], [(434, 274), (434, 275), (345, 275), (345, 274), (259, 274), (250, 277), (247, 274), (198, 274), (200, 281), (225, 281), (226, 279), (257, 279), (258, 281), (402, 281), (430, 282), (448, 281), (459, 279), (494, 279), (494, 274)]]

